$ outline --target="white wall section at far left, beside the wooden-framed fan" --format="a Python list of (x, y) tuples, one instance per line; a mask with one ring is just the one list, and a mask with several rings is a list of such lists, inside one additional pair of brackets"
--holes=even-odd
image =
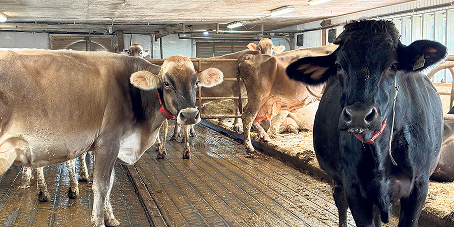
[(50, 38), (48, 33), (0, 32), (0, 47), (50, 49)]

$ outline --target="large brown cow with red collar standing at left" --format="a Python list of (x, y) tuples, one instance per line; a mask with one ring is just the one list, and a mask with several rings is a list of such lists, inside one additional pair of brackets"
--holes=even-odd
[(164, 121), (159, 108), (195, 124), (197, 86), (222, 81), (219, 70), (196, 73), (183, 56), (158, 67), (69, 50), (0, 51), (0, 72), (0, 175), (13, 163), (36, 168), (93, 150), (93, 226), (120, 224), (109, 201), (113, 165), (134, 164), (153, 145)]

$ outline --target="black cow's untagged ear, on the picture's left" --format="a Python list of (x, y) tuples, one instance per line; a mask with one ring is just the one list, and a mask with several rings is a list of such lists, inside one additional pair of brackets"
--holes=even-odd
[(287, 75), (306, 84), (321, 84), (336, 74), (335, 53), (302, 58), (287, 67)]

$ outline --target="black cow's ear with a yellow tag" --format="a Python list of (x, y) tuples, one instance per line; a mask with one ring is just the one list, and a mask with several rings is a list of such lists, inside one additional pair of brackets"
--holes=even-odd
[(419, 71), (436, 64), (446, 56), (446, 46), (431, 40), (417, 40), (409, 46), (399, 45), (398, 58), (403, 70)]

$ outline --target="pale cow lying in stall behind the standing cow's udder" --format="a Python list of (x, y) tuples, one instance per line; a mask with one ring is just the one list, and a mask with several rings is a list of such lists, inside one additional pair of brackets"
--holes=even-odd
[(319, 101), (315, 101), (296, 112), (279, 110), (269, 122), (262, 121), (260, 126), (270, 136), (276, 133), (299, 134), (299, 131), (302, 130), (312, 131), (319, 103)]

